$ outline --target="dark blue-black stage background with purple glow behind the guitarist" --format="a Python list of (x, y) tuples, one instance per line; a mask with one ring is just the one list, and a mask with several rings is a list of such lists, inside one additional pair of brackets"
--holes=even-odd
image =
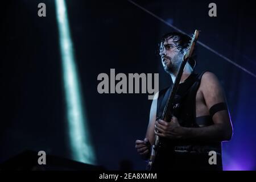
[[(47, 6), (39, 18), (38, 3)], [(97, 76), (159, 73), (160, 89), (170, 84), (155, 54), (160, 37), (174, 31), (129, 1), (65, 1), (81, 81), (81, 93), (97, 164), (132, 169), (145, 164), (135, 140), (146, 133), (148, 94), (99, 94)], [(200, 42), (256, 74), (254, 1), (134, 1)], [(25, 150), (71, 159), (54, 1), (1, 2), (0, 163)], [(225, 170), (256, 169), (256, 77), (197, 46), (196, 71), (212, 71), (225, 89), (234, 135), (224, 142)]]

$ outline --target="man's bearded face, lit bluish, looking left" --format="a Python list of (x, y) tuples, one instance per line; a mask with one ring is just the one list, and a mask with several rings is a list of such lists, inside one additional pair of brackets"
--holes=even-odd
[(174, 39), (166, 39), (161, 43), (159, 55), (167, 73), (176, 73), (178, 71), (180, 62), (183, 59), (183, 53), (175, 46)]

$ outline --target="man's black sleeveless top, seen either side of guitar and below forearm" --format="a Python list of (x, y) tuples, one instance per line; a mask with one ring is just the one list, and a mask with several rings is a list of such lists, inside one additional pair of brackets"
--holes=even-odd
[[(191, 75), (181, 84), (177, 89), (175, 96), (175, 104), (179, 104), (179, 109), (175, 111), (174, 115), (179, 120), (183, 127), (200, 127), (213, 125), (210, 115), (196, 118), (196, 93), (199, 89), (201, 77), (205, 73), (192, 72)], [(170, 95), (172, 85), (166, 89), (160, 90), (158, 95), (158, 104), (156, 110), (156, 117), (160, 118), (166, 105), (168, 96)], [(175, 151), (191, 151), (197, 153), (206, 153), (209, 151), (216, 151), (221, 155), (221, 142), (199, 142), (194, 140), (177, 140), (172, 141), (171, 144)]]

